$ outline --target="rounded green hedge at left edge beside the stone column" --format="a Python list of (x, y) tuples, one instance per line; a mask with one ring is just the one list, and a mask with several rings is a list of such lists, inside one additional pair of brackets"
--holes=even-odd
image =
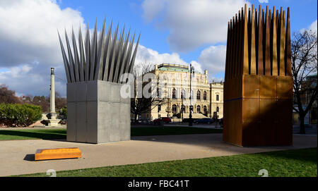
[(41, 106), (0, 104), (0, 124), (8, 127), (29, 126), (42, 118)]

